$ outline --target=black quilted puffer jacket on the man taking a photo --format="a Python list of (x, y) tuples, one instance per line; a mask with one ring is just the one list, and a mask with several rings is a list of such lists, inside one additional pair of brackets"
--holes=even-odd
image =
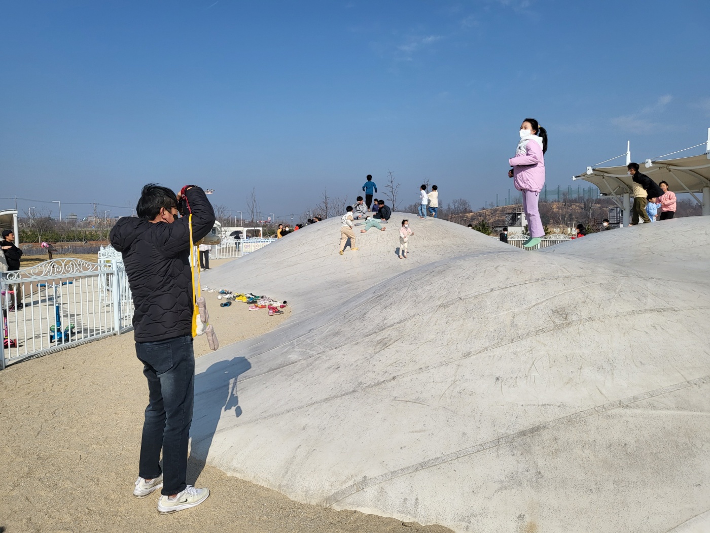
[[(192, 209), (192, 239), (214, 226), (214, 210), (204, 191), (185, 193)], [(192, 273), (187, 217), (148, 222), (123, 217), (111, 230), (111, 245), (121, 252), (133, 294), (136, 343), (150, 343), (192, 332)]]

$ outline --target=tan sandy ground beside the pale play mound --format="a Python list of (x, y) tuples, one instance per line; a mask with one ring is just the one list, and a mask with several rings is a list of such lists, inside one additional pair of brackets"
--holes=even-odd
[[(270, 317), (239, 302), (220, 308), (216, 294), (207, 305), (221, 345), (265, 333), (290, 314)], [(197, 338), (195, 355), (208, 351)], [(209, 487), (209, 499), (158, 515), (157, 492), (143, 500), (131, 493), (148, 401), (141, 370), (127, 333), (0, 372), (0, 532), (450, 531), (300, 504), (192, 460), (187, 483)]]

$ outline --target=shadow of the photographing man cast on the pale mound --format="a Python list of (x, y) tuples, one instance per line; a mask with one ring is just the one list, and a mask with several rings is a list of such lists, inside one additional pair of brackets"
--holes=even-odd
[(245, 357), (214, 363), (195, 376), (195, 411), (190, 428), (192, 443), (187, 460), (187, 483), (195, 485), (204, 469), (217, 424), (228, 411), (241, 416), (237, 382), (240, 375), (251, 368)]

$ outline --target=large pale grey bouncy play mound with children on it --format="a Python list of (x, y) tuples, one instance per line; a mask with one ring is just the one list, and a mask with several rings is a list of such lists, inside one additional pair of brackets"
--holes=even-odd
[(339, 256), (328, 220), (215, 272), (294, 315), (200, 358), (192, 453), (462, 532), (707, 523), (710, 221), (535, 252), (410, 221), (407, 262), (389, 228)]

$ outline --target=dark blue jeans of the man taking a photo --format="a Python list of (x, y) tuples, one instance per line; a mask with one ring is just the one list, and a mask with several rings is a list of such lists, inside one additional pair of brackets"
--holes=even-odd
[(150, 401), (143, 423), (138, 475), (145, 479), (160, 475), (162, 449), (161, 492), (163, 495), (177, 494), (187, 486), (187, 438), (190, 436), (195, 392), (192, 336), (136, 343), (136, 355), (143, 362)]

